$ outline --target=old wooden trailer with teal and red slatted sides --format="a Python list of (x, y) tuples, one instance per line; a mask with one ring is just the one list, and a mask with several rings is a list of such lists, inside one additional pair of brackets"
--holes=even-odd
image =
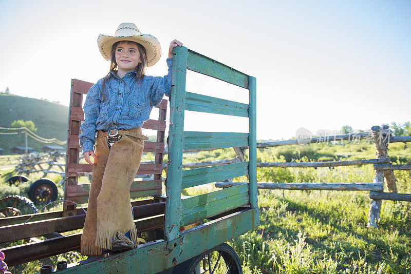
[[(249, 104), (186, 92), (188, 69), (248, 89)], [(1, 243), (44, 235), (58, 237), (2, 249), (9, 266), (80, 248), (81, 232), (66, 236), (58, 233), (81, 229), (85, 220), (84, 210), (72, 202), (88, 202), (89, 184), (79, 184), (78, 179), (91, 174), (91, 166), (79, 163), (78, 136), (84, 121), (83, 95), (91, 85), (79, 80), (72, 80), (71, 84), (63, 210), (38, 213), (31, 218), (26, 215), (0, 219)], [(143, 126), (157, 130), (156, 142), (145, 142), (144, 147), (144, 152), (155, 153), (155, 161), (142, 164), (138, 171), (138, 174), (152, 174), (153, 180), (136, 180), (130, 188), (130, 197), (140, 198), (132, 201), (134, 219), (147, 242), (132, 250), (106, 253), (71, 263), (67, 268), (62, 263), (57, 270), (49, 267), (43, 272), (242, 273), (238, 256), (224, 243), (259, 225), (255, 77), (185, 47), (174, 49), (165, 195), (161, 194), (161, 172), (167, 101), (163, 100), (158, 108), (158, 120), (148, 120)], [(184, 131), (184, 110), (248, 117), (249, 133)], [(182, 170), (183, 150), (242, 146), (249, 147), (248, 162)], [(195, 197), (181, 195), (184, 188), (242, 175), (249, 175), (248, 184)], [(141, 200), (142, 197), (149, 198)]]

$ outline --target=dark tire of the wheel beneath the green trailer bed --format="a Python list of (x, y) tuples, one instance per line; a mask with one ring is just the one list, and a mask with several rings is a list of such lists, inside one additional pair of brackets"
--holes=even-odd
[[(215, 264), (224, 261), (225, 265), (227, 266), (227, 270), (230, 268), (230, 265), (231, 265), (230, 271), (227, 273), (242, 274), (241, 262), (240, 262), (240, 259), (238, 258), (237, 253), (231, 246), (229, 246), (226, 243), (217, 245), (216, 247), (213, 247), (203, 252), (199, 256), (194, 257), (193, 259), (190, 259), (189, 261), (186, 261), (186, 262), (181, 263), (180, 265), (177, 265), (173, 270), (173, 274), (177, 274), (177, 273), (199, 274), (199, 273), (194, 272), (196, 266), (200, 264), (203, 261), (203, 259), (207, 259), (208, 255), (212, 254), (215, 251), (218, 252), (221, 255), (221, 258), (223, 259), (221, 260), (221, 258), (219, 258), (218, 260), (217, 258)], [(207, 273), (212, 273), (212, 270), (215, 268), (215, 264), (213, 262), (210, 262), (211, 270), (207, 270)], [(207, 267), (209, 266), (206, 265), (205, 268)]]

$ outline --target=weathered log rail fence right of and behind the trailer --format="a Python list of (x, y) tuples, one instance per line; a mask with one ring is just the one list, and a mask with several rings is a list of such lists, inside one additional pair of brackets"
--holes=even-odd
[[(257, 163), (257, 167), (335, 167), (335, 166), (359, 166), (373, 164), (375, 169), (372, 183), (257, 183), (257, 188), (264, 189), (289, 189), (289, 190), (355, 190), (369, 191), (370, 206), (368, 214), (368, 227), (377, 227), (380, 218), (382, 200), (408, 201), (411, 202), (411, 194), (397, 193), (396, 179), (393, 170), (411, 170), (411, 165), (393, 165), (387, 153), (388, 143), (411, 142), (411, 136), (390, 136), (391, 131), (387, 126), (373, 126), (370, 132), (361, 132), (344, 135), (322, 136), (310, 139), (294, 139), (286, 141), (274, 141), (257, 143), (257, 148), (269, 148), (286, 145), (302, 145), (310, 143), (322, 143), (330, 141), (353, 141), (370, 139), (375, 143), (377, 151), (376, 159), (333, 161), (333, 162), (310, 162), (310, 163)], [(237, 158), (219, 161), (244, 161), (245, 147), (237, 147), (235, 150)], [(219, 162), (213, 161), (213, 162)], [(195, 166), (190, 163), (187, 167)], [(202, 164), (202, 163), (198, 163)], [(210, 162), (209, 164), (216, 164)], [(384, 182), (389, 192), (384, 192)], [(216, 187), (230, 187), (244, 183), (217, 182)]]

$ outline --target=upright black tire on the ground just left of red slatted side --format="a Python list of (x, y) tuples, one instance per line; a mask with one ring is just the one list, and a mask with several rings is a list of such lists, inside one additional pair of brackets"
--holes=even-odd
[(45, 205), (57, 200), (58, 190), (52, 180), (42, 178), (32, 183), (27, 193), (35, 205)]

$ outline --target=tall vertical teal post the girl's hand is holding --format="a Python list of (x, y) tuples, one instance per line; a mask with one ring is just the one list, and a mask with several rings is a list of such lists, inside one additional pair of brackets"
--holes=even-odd
[(165, 187), (164, 234), (168, 241), (178, 238), (181, 220), (181, 172), (187, 48), (175, 47), (171, 79), (169, 161)]

